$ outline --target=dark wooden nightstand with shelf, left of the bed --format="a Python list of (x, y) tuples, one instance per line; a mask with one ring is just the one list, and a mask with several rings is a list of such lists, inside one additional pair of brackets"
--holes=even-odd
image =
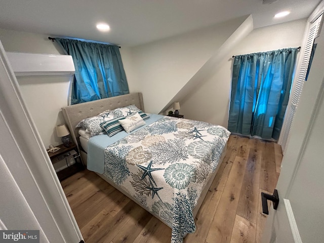
[[(56, 147), (59, 147), (60, 150), (54, 153), (48, 152), (48, 154), (60, 181), (85, 169), (80, 153), (74, 143), (70, 142), (69, 147), (65, 147), (63, 144)], [(74, 164), (72, 164), (73, 159), (75, 160)]]

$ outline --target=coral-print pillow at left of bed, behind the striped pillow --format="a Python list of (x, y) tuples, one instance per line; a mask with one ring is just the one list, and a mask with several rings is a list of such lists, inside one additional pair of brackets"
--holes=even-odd
[(100, 127), (100, 124), (104, 121), (111, 120), (114, 118), (111, 110), (105, 110), (100, 114), (92, 117), (85, 118), (75, 126), (76, 128), (82, 128), (90, 132), (90, 137), (103, 133), (104, 130)]

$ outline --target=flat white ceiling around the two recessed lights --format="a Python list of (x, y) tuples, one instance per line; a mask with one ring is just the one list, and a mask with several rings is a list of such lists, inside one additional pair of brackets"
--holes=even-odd
[[(307, 18), (321, 0), (2, 0), (0, 28), (137, 46), (252, 14), (255, 28)], [(279, 11), (291, 11), (273, 19)], [(108, 32), (96, 29), (106, 22)]]

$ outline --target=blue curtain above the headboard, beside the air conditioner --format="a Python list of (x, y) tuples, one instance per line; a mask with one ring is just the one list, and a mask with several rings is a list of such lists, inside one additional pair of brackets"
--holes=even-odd
[(55, 41), (74, 62), (71, 104), (129, 94), (118, 46), (65, 38)]

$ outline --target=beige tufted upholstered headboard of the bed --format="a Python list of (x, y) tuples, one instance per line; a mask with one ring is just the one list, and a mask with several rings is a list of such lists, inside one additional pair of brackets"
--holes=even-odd
[(112, 110), (128, 105), (136, 105), (139, 109), (144, 111), (142, 93), (131, 93), (86, 103), (69, 105), (62, 107), (62, 112), (66, 125), (71, 133), (73, 142), (75, 144), (78, 144), (77, 138), (79, 137), (79, 135), (77, 133), (78, 130), (75, 129), (75, 126), (80, 120), (95, 116), (105, 110)]

